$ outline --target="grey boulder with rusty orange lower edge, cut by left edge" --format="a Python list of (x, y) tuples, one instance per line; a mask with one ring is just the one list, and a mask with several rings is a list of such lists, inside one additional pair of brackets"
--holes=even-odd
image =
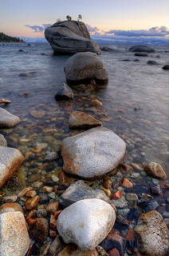
[(19, 150), (0, 146), (0, 188), (13, 176), (22, 162), (24, 158)]

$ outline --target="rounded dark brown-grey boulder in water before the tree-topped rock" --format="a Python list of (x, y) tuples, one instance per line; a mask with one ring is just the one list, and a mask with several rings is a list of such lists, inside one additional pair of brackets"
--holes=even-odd
[(65, 62), (64, 71), (69, 82), (88, 82), (92, 79), (98, 83), (108, 82), (108, 72), (103, 62), (93, 53), (74, 54)]

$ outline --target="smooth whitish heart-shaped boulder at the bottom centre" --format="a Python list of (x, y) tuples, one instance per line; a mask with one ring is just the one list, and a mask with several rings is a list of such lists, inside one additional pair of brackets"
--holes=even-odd
[(112, 230), (115, 219), (115, 210), (107, 202), (84, 199), (59, 214), (57, 231), (66, 243), (74, 242), (81, 250), (93, 250)]

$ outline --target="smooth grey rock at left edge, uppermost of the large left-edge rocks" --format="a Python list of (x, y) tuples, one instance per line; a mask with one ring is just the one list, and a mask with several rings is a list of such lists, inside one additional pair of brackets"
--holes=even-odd
[(10, 114), (10, 112), (0, 107), (0, 128), (13, 127), (20, 121), (20, 118), (18, 118), (16, 115)]

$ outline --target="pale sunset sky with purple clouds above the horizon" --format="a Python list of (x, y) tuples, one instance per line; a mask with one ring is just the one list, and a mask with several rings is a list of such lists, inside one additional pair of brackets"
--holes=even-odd
[(68, 14), (81, 14), (95, 35), (169, 35), (168, 0), (0, 0), (0, 32), (43, 37), (46, 26)]

